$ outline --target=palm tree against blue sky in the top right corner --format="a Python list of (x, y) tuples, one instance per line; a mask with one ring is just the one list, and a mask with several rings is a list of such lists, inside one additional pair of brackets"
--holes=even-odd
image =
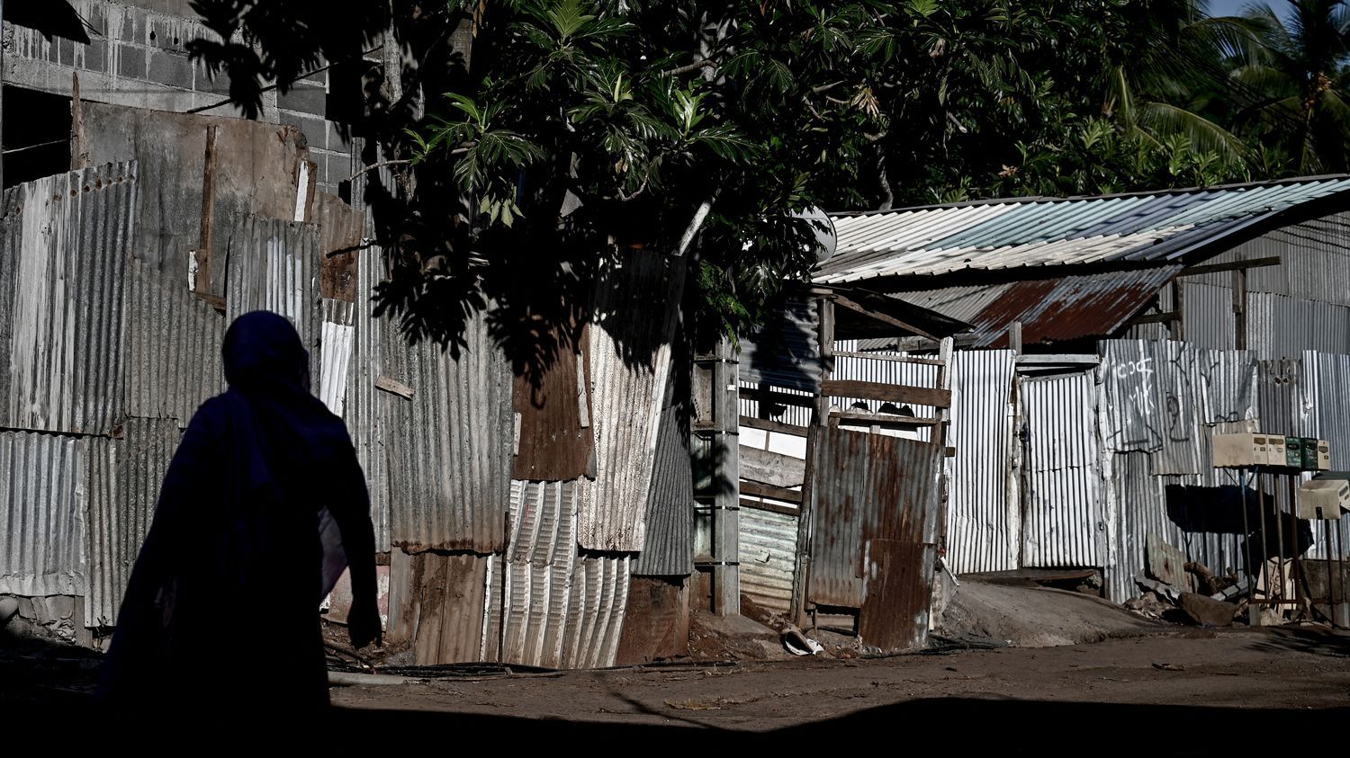
[(1235, 78), (1261, 93), (1246, 116), (1282, 136), (1300, 173), (1350, 169), (1350, 107), (1345, 96), (1350, 7), (1343, 0), (1288, 0), (1281, 19), (1268, 4), (1247, 18), (1261, 27), (1262, 54)]

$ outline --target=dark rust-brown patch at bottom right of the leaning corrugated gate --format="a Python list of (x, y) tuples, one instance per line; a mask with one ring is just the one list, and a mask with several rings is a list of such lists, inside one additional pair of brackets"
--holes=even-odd
[(923, 645), (933, 595), (932, 550), (919, 542), (871, 541), (867, 599), (859, 612), (864, 645), (887, 653)]

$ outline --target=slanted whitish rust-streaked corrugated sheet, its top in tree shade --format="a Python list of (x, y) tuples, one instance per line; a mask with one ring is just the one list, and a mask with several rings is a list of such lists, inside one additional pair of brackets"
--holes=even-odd
[(639, 250), (602, 264), (590, 332), (595, 479), (580, 487), (582, 548), (643, 549), (684, 266), (680, 258)]

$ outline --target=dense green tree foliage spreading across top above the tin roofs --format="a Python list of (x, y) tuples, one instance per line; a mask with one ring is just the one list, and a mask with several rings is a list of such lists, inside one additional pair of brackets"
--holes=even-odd
[(192, 53), (254, 112), (350, 74), (410, 336), (452, 341), (486, 298), (575, 321), (622, 247), (683, 255), (733, 329), (809, 272), (810, 206), (1345, 170), (1345, 5), (1292, 4), (1291, 26), (1195, 0), (196, 0), (244, 43)]

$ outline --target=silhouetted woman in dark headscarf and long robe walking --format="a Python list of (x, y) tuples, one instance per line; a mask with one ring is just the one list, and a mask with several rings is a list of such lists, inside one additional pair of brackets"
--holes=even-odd
[(300, 336), (247, 313), (221, 352), (230, 388), (184, 433), (104, 661), (99, 695), (119, 709), (323, 709), (319, 604), (344, 566), (351, 643), (379, 637), (364, 475)]

